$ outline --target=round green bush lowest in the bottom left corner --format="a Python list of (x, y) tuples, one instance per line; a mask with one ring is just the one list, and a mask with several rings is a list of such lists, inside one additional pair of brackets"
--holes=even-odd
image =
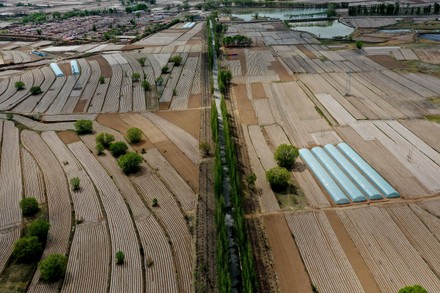
[(40, 261), (40, 279), (45, 282), (54, 282), (62, 279), (66, 273), (67, 257), (61, 254), (51, 254)]

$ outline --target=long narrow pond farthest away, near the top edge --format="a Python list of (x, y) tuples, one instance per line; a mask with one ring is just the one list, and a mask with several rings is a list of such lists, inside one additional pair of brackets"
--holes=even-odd
[(286, 9), (238, 9), (232, 13), (233, 17), (240, 18), (244, 21), (255, 20), (255, 15), (258, 14), (259, 19), (272, 18), (279, 20), (293, 20), (293, 19), (308, 19), (321, 18), (327, 16), (327, 9), (325, 8), (286, 8)]

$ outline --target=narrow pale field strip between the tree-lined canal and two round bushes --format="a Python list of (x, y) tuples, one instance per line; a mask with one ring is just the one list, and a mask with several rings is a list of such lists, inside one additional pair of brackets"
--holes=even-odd
[(243, 136), (246, 142), (247, 152), (249, 155), (249, 161), (251, 163), (252, 171), (255, 173), (257, 180), (255, 181), (255, 186), (260, 190), (260, 204), (264, 212), (273, 212), (280, 209), (280, 206), (275, 198), (275, 194), (269, 186), (266, 180), (266, 172), (261, 165), (258, 155), (255, 152), (254, 146), (252, 145), (251, 138), (249, 136), (249, 131), (247, 125), (242, 125)]

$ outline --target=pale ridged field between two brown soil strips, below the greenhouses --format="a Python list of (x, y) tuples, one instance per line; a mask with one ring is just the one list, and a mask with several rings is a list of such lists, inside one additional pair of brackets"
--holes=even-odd
[(286, 214), (286, 220), (319, 292), (365, 292), (323, 212)]

